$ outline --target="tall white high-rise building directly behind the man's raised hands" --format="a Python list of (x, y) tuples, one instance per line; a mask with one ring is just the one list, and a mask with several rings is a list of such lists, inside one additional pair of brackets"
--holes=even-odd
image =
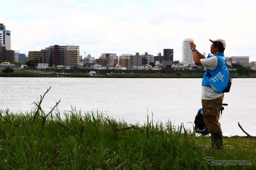
[(182, 62), (188, 64), (194, 63), (192, 51), (190, 49), (190, 42), (194, 42), (193, 39), (187, 38), (182, 42)]

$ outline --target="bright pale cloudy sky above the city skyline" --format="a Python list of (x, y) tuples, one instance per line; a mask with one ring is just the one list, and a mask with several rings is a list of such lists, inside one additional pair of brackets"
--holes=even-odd
[(256, 61), (256, 0), (0, 0), (0, 23), (11, 49), (28, 54), (50, 45), (79, 45), (80, 55), (156, 56), (182, 42), (210, 53), (209, 39), (226, 41), (224, 54)]

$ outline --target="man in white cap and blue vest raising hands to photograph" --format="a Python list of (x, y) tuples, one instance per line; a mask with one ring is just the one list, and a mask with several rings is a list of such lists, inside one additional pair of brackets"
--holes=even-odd
[(196, 50), (194, 42), (190, 42), (192, 49), (193, 60), (196, 65), (202, 65), (207, 71), (202, 80), (202, 109), (204, 115), (204, 123), (211, 134), (212, 147), (222, 148), (222, 130), (218, 122), (220, 117), (220, 109), (224, 94), (216, 91), (209, 83), (209, 77), (216, 75), (226, 65), (224, 58), (224, 50), (226, 42), (222, 39), (211, 40), (212, 45), (210, 52), (213, 54), (204, 57), (199, 51)]

